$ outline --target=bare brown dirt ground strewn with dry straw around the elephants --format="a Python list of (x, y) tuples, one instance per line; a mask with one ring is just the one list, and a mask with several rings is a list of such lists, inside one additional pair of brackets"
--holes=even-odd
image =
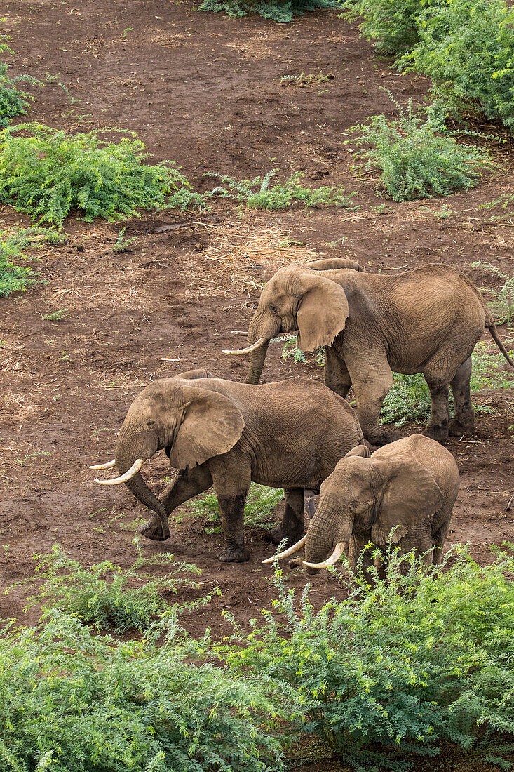
[[(490, 213), (479, 208), (514, 191), (512, 140), (501, 127), (483, 127), (497, 137), (489, 147), (498, 165), (474, 191), (404, 204), (380, 198), (376, 175), (352, 168), (348, 130), (394, 113), (384, 89), (401, 104), (418, 104), (428, 82), (399, 75), (336, 12), (277, 25), (195, 12), (188, 2), (30, 0), (4, 4), (2, 16), (16, 52), (12, 73), (59, 73), (68, 91), (56, 82), (36, 90), (30, 120), (70, 131), (134, 130), (156, 161), (177, 161), (204, 190), (213, 187), (202, 178), (208, 171), (252, 177), (278, 167), (303, 171), (311, 185), (343, 184), (360, 206), (238, 212), (225, 202), (209, 212), (143, 213), (123, 224), (136, 237), (128, 252), (113, 252), (120, 224), (65, 222), (67, 242), (39, 252), (45, 283), (0, 300), (3, 586), (32, 574), (32, 554), (56, 543), (85, 564), (132, 562), (134, 520), (145, 513), (124, 486), (96, 486), (87, 467), (112, 458), (127, 407), (150, 379), (191, 367), (244, 378), (246, 362), (221, 348), (242, 341), (229, 331), (245, 329), (277, 267), (344, 255), (372, 271), (458, 266), (486, 287), (499, 282), (472, 269), (475, 260), (512, 275), (514, 224), (485, 224)], [(280, 81), (320, 71), (333, 80), (305, 87)], [(443, 204), (455, 213), (438, 217)], [(2, 228), (29, 224), (8, 207), (0, 218)], [(42, 320), (63, 309), (63, 320)], [(278, 345), (270, 348), (266, 381), (322, 378), (319, 368), (279, 354)], [(487, 561), (489, 545), (512, 540), (514, 511), (505, 506), (514, 491), (514, 394), (483, 391), (476, 401), (494, 412), (478, 417), (474, 436), (448, 443), (462, 475), (451, 540), (471, 543), (472, 554)], [(166, 460), (163, 454), (147, 467), (155, 490)], [(202, 590), (221, 587), (218, 602), (191, 625), (222, 631), (223, 609), (245, 620), (273, 597), (271, 571), (260, 564), (270, 551), (262, 533), (249, 531), (252, 557), (242, 565), (218, 562), (220, 537), (207, 535), (198, 516), (184, 517), (167, 543), (142, 541), (147, 554), (171, 551), (201, 567)], [(302, 587), (305, 577), (289, 581)], [(333, 578), (316, 577), (313, 598), (337, 591)], [(21, 608), (21, 591), (0, 595), (0, 615)]]

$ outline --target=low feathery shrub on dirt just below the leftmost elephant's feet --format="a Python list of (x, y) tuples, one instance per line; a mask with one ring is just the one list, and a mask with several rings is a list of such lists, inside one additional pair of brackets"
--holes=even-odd
[[(110, 560), (84, 568), (56, 545), (50, 554), (34, 556), (39, 560), (36, 577), (17, 582), (12, 587), (35, 582), (39, 585), (42, 580), (36, 594), (29, 598), (27, 608), (49, 600), (52, 608), (76, 615), (97, 630), (123, 632), (136, 628), (142, 631), (150, 627), (155, 615), (168, 608), (161, 593), (175, 593), (184, 585), (198, 587), (190, 577), (181, 574), (184, 571), (201, 574), (201, 571), (192, 564), (175, 562), (169, 553), (144, 557), (137, 537), (133, 543), (137, 558), (128, 569), (114, 565)], [(167, 567), (165, 576), (155, 577), (148, 573), (148, 568), (159, 566)]]

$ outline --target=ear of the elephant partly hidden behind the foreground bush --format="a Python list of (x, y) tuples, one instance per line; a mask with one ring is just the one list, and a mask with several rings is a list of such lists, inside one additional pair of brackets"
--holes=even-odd
[(382, 480), (382, 495), (371, 527), (371, 540), (386, 544), (391, 528), (398, 526), (391, 537), (393, 543), (398, 543), (414, 523), (431, 520), (441, 508), (441, 489), (428, 469), (417, 461), (376, 461), (373, 468)]

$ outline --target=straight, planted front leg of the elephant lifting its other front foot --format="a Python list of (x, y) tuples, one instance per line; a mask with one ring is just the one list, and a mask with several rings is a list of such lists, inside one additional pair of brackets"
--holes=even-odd
[(245, 501), (252, 482), (251, 464), (208, 461), (221, 510), (221, 527), (225, 537), (225, 549), (218, 555), (223, 563), (245, 563), (250, 559), (245, 537)]

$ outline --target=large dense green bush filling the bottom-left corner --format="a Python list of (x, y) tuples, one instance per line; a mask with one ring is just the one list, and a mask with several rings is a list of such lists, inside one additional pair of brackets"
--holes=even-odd
[(140, 642), (93, 635), (56, 609), (37, 628), (6, 625), (2, 770), (282, 770), (280, 695), (262, 679), (198, 662), (200, 647), (178, 625), (184, 610), (171, 609)]

